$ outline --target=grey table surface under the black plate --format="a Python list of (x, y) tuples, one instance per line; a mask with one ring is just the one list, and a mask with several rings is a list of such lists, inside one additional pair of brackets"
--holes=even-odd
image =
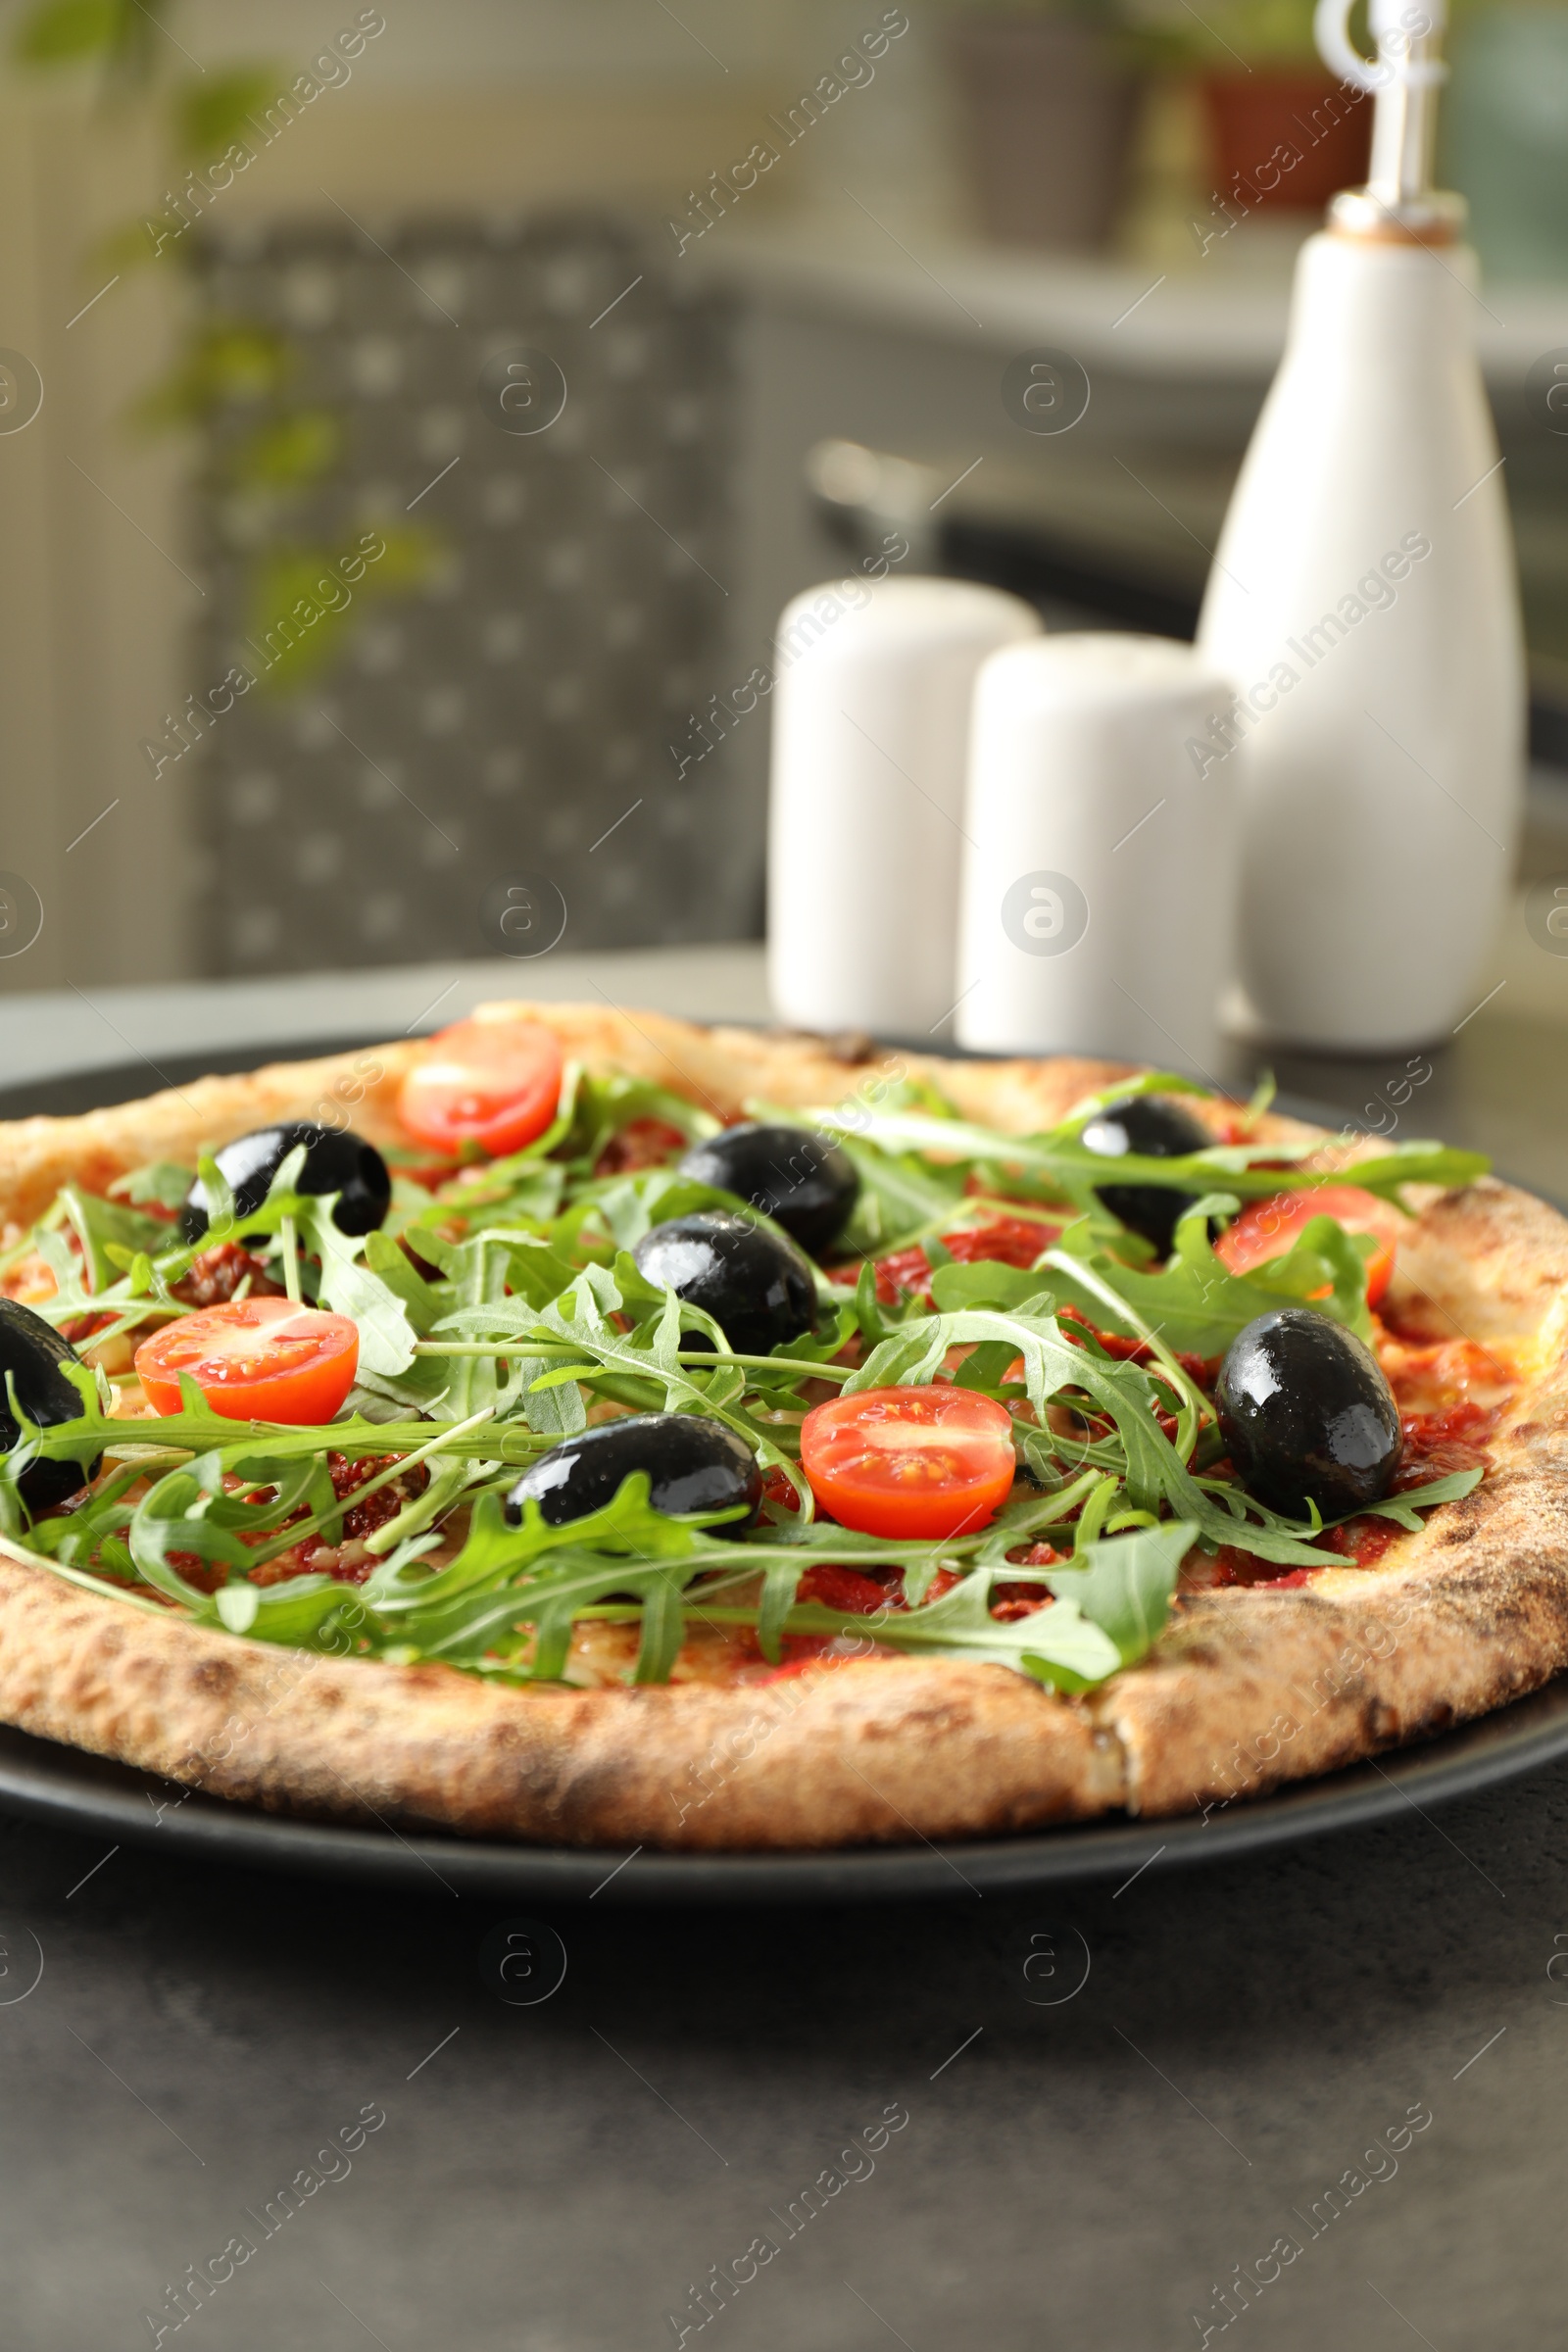
[[(517, 993), (9, 1000), (0, 1084), (418, 1028), (449, 981), (433, 1018)], [(550, 981), (764, 1014), (755, 950)], [(1389, 1073), (1281, 1077), (1354, 1112)], [(1563, 1037), (1479, 1018), (1420, 1127), (1568, 1190)], [(559, 1907), (531, 2006), (482, 1969), (510, 1919), (0, 1818), (5, 2352), (1561, 2340), (1568, 1766), (1121, 1889)]]

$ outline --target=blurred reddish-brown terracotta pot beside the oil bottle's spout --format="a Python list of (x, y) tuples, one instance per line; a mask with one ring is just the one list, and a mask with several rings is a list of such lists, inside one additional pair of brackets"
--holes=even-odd
[(1204, 101), (1213, 186), (1246, 209), (1321, 212), (1366, 179), (1371, 101), (1326, 73), (1215, 73)]

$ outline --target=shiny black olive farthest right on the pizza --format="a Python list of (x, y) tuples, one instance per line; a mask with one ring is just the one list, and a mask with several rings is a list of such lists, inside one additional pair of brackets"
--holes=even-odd
[(1220, 1435), (1244, 1486), (1291, 1517), (1380, 1503), (1399, 1465), (1399, 1406), (1371, 1348), (1312, 1308), (1260, 1315), (1229, 1343), (1215, 1385)]

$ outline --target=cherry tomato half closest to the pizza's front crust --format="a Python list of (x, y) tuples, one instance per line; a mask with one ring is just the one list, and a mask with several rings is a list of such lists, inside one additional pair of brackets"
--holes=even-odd
[(806, 1414), (806, 1477), (863, 1536), (973, 1536), (1013, 1486), (1013, 1423), (969, 1388), (867, 1388)]

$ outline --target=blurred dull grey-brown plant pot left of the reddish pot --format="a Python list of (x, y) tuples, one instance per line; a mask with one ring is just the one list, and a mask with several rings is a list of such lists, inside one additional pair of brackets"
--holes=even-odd
[(985, 233), (1053, 252), (1105, 245), (1138, 106), (1138, 82), (1110, 42), (1072, 19), (959, 16), (947, 54)]

